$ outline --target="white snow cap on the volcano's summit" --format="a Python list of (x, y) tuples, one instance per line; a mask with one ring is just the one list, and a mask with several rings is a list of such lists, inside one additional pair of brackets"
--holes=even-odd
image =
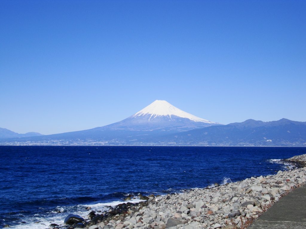
[(175, 115), (181, 118), (188, 118), (194, 122), (215, 123), (182, 111), (165, 100), (155, 100), (149, 106), (145, 107), (141, 111), (138, 111), (135, 115), (132, 115), (131, 118), (136, 118), (139, 116), (150, 116), (150, 121), (151, 119), (160, 116), (170, 116), (171, 118), (171, 115)]

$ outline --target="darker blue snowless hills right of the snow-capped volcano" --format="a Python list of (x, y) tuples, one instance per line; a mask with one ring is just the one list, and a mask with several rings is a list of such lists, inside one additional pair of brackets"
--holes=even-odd
[(162, 145), (306, 146), (306, 122), (281, 119), (210, 126), (153, 140)]

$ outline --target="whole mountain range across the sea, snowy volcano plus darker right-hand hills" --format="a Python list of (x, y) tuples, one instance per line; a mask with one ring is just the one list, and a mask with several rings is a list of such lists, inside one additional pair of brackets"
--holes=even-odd
[(306, 146), (306, 122), (285, 118), (271, 122), (248, 119), (222, 125), (191, 115), (164, 100), (156, 100), (134, 115), (110, 125), (45, 136), (17, 137), (2, 138), (0, 144)]

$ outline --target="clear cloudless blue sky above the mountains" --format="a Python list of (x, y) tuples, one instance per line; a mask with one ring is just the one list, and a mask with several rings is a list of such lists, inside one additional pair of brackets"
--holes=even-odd
[(155, 100), (305, 122), (305, 35), (304, 0), (0, 0), (0, 127), (90, 129)]

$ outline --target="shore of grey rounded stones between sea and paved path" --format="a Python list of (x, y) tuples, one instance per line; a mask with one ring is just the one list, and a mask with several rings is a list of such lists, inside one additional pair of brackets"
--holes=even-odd
[[(304, 160), (305, 163), (306, 154), (288, 160)], [(273, 176), (251, 177), (179, 194), (143, 196), (143, 202), (123, 203), (108, 212), (89, 209), (88, 219), (69, 215), (65, 219), (66, 226), (51, 224), (49, 228), (245, 228), (282, 196), (304, 184), (306, 167), (278, 171)]]

